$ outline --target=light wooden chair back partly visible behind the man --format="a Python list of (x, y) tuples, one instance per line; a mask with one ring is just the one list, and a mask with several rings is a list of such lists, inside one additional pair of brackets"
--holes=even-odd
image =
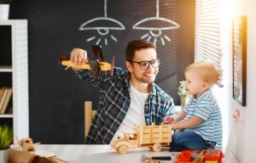
[(91, 121), (95, 115), (96, 110), (92, 110), (91, 101), (84, 101), (84, 137), (89, 132)]

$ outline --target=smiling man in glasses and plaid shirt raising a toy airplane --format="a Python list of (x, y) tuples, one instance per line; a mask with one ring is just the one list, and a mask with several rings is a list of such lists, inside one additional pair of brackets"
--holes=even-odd
[[(85, 143), (110, 143), (116, 136), (122, 136), (123, 130), (132, 131), (134, 124), (160, 124), (173, 113), (173, 99), (154, 84), (160, 65), (154, 44), (131, 41), (125, 55), (128, 71), (114, 68), (113, 76), (102, 71), (96, 79), (90, 70), (75, 70), (81, 79), (101, 88), (99, 107)], [(74, 48), (71, 61), (76, 65), (86, 63), (87, 52)]]

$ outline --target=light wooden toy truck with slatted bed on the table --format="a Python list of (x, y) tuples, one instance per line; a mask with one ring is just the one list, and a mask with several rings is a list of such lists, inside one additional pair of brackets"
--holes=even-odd
[(160, 125), (152, 126), (133, 126), (133, 132), (124, 132), (124, 138), (117, 138), (111, 147), (119, 154), (127, 153), (129, 148), (148, 147), (156, 152), (162, 146), (168, 146), (172, 142), (172, 126)]

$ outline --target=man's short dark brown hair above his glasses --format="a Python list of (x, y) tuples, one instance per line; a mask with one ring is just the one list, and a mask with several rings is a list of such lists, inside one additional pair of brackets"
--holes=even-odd
[(125, 49), (126, 61), (131, 61), (134, 57), (134, 54), (137, 50), (141, 50), (143, 48), (154, 48), (155, 45), (152, 42), (144, 41), (144, 40), (134, 40), (128, 43)]

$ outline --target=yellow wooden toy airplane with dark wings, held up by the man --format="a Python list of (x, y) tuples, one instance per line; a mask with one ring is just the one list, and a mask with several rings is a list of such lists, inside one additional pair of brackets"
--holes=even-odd
[(67, 54), (61, 54), (59, 56), (59, 63), (61, 65), (66, 65), (67, 70), (69, 67), (77, 68), (77, 69), (86, 69), (86, 70), (91, 70), (92, 75), (99, 77), (100, 71), (103, 70), (111, 70), (111, 76), (113, 76), (113, 67), (114, 67), (114, 56), (112, 59), (112, 64), (109, 64), (103, 59), (102, 55), (102, 48), (101, 46), (98, 45), (92, 45), (91, 46), (92, 50), (92, 59), (88, 59), (88, 63), (85, 63), (81, 66), (75, 65), (73, 62), (70, 61), (70, 58)]

